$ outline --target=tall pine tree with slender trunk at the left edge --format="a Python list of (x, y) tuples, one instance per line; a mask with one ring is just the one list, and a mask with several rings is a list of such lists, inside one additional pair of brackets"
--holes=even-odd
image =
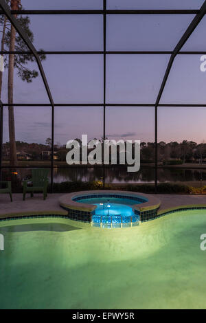
[[(21, 0), (8, 0), (11, 10), (21, 10)], [(34, 34), (30, 30), (30, 18), (28, 16), (15, 15), (19, 24), (23, 28), (24, 32), (30, 38), (30, 41), (34, 41)], [(25, 45), (21, 36), (16, 33), (15, 28), (9, 24), (5, 16), (1, 16), (1, 25), (3, 25), (3, 32), (1, 38), (1, 50), (14, 51), (28, 51), (27, 45)], [(41, 49), (41, 51), (43, 51)], [(45, 60), (45, 54), (41, 54), (41, 60)], [(35, 58), (29, 54), (9, 54), (7, 58), (5, 56), (5, 68), (8, 68), (8, 104), (14, 103), (14, 69), (17, 71), (17, 75), (21, 80), (28, 83), (32, 82), (33, 78), (38, 76), (38, 71), (35, 69), (29, 69), (27, 63), (34, 62)], [(2, 87), (2, 75), (0, 75), (0, 98)], [(15, 138), (15, 123), (14, 123), (14, 107), (11, 105), (8, 107), (8, 124), (9, 124), (9, 137), (10, 137), (10, 166), (17, 166), (16, 157), (16, 138)]]

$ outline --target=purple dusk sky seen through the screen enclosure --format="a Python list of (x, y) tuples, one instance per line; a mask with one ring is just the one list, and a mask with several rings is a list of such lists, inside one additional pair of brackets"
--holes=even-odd
[[(99, 9), (102, 0), (22, 0), (25, 9)], [(199, 0), (111, 0), (108, 9), (198, 9)], [(172, 50), (194, 15), (110, 15), (107, 17), (107, 50)], [(36, 49), (48, 51), (103, 49), (102, 16), (30, 16)], [(183, 50), (206, 51), (206, 17)], [(108, 55), (106, 58), (107, 103), (155, 103), (168, 65), (169, 55)], [(206, 72), (201, 55), (179, 55), (174, 61), (161, 104), (206, 103)], [(36, 63), (30, 67), (36, 68)], [(56, 103), (103, 102), (102, 55), (47, 55), (43, 68)], [(3, 74), (2, 100), (7, 102), (7, 71)], [(49, 103), (38, 76), (32, 84), (14, 80), (16, 103)], [(4, 138), (8, 141), (8, 112), (4, 115)], [(51, 109), (15, 109), (16, 140), (44, 143), (51, 137)], [(206, 141), (204, 108), (159, 108), (159, 141)], [(56, 107), (55, 143), (87, 133), (89, 139), (103, 135), (102, 107)], [(110, 139), (155, 141), (155, 111), (150, 107), (106, 108), (106, 135)]]

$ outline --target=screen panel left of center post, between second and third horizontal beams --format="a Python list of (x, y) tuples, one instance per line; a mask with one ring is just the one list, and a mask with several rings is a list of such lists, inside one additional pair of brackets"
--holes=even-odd
[(102, 55), (48, 55), (43, 68), (56, 103), (102, 103)]

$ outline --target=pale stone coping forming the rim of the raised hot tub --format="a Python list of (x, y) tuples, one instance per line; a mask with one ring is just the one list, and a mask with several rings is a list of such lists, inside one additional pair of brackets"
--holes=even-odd
[(133, 205), (133, 210), (137, 210), (139, 212), (146, 212), (149, 210), (156, 210), (161, 205), (161, 201), (150, 194), (142, 194), (138, 192), (128, 192), (124, 190), (86, 190), (81, 192), (72, 192), (68, 194), (64, 194), (58, 200), (60, 206), (65, 209), (70, 210), (78, 210), (83, 212), (93, 212), (97, 208), (96, 205), (87, 204), (87, 203), (80, 203), (78, 201), (73, 201), (76, 197), (80, 197), (82, 195), (101, 195), (101, 194), (114, 194), (114, 195), (123, 195), (128, 197), (142, 197), (148, 201), (144, 203), (139, 203)]

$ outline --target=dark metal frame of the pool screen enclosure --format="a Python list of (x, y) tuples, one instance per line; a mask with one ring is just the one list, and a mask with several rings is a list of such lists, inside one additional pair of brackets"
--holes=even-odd
[[(5, 3), (4, 0), (0, 0), (0, 14), (5, 14), (7, 16), (8, 20), (12, 25), (15, 27), (16, 31), (19, 33), (23, 41), (28, 47), (28, 51), (24, 52), (25, 54), (31, 54), (36, 58), (36, 63), (38, 65), (38, 69), (40, 71), (41, 77), (43, 79), (43, 83), (45, 85), (45, 90), (47, 91), (47, 96), (49, 98), (50, 104), (7, 104), (5, 102), (0, 102), (0, 173), (2, 168), (10, 168), (12, 166), (2, 166), (2, 148), (3, 148), (3, 107), (9, 107), (12, 105), (13, 107), (51, 107), (52, 108), (52, 159), (51, 159), (51, 183), (52, 183), (52, 191), (54, 187), (54, 109), (55, 107), (102, 107), (103, 108), (103, 119), (104, 119), (104, 129), (103, 129), (103, 138), (105, 139), (106, 133), (106, 108), (107, 107), (154, 107), (155, 109), (155, 192), (157, 192), (157, 169), (158, 169), (158, 124), (157, 124), (157, 117), (158, 117), (158, 107), (206, 107), (206, 104), (160, 104), (161, 96), (163, 94), (163, 90), (165, 88), (166, 82), (168, 80), (168, 76), (170, 74), (170, 70), (172, 68), (172, 65), (174, 63), (174, 59), (177, 55), (197, 55), (197, 54), (206, 54), (206, 52), (181, 52), (181, 49), (187, 39), (190, 37), (192, 32), (196, 29), (198, 23), (201, 22), (203, 17), (206, 13), (206, 1), (204, 1), (203, 5), (199, 10), (107, 10), (106, 8), (106, 0), (102, 0), (103, 9), (102, 10), (19, 10), (19, 11), (11, 11), (8, 5)], [(102, 54), (104, 57), (104, 63), (103, 63), (103, 70), (104, 70), (104, 90), (103, 90), (103, 102), (98, 102), (95, 104), (88, 104), (88, 103), (69, 103), (69, 104), (58, 104), (58, 102), (54, 102), (52, 98), (52, 93), (49, 89), (49, 84), (47, 82), (47, 77), (45, 76), (45, 72), (43, 70), (43, 66), (41, 64), (41, 60), (39, 58), (39, 55), (41, 52), (36, 51), (34, 45), (30, 42), (30, 39), (27, 37), (25, 32), (22, 30), (21, 26), (19, 25), (18, 21), (14, 17), (14, 14), (65, 14), (65, 15), (71, 15), (71, 14), (102, 14), (103, 16), (103, 43), (104, 43), (104, 49), (103, 51), (56, 51), (56, 52), (47, 52), (45, 51), (44, 54), (52, 55), (52, 54)], [(187, 30), (181, 37), (179, 43), (177, 43), (176, 47), (174, 47), (173, 51), (107, 51), (106, 50), (106, 17), (108, 14), (196, 14), (194, 16), (194, 19), (192, 20), (192, 23), (187, 27)], [(0, 52), (0, 54), (23, 54), (23, 52)], [(170, 60), (168, 63), (168, 67), (165, 70), (165, 74), (163, 77), (163, 80), (161, 82), (161, 87), (159, 89), (159, 93), (157, 96), (156, 102), (154, 104), (141, 104), (140, 102), (137, 102), (137, 104), (108, 104), (106, 102), (106, 55), (107, 54), (158, 54), (158, 55), (164, 55), (164, 54), (170, 54)], [(38, 166), (39, 167), (39, 166)], [(29, 167), (19, 167), (18, 168), (29, 168)], [(105, 183), (105, 170), (104, 166), (103, 168), (103, 180)]]

